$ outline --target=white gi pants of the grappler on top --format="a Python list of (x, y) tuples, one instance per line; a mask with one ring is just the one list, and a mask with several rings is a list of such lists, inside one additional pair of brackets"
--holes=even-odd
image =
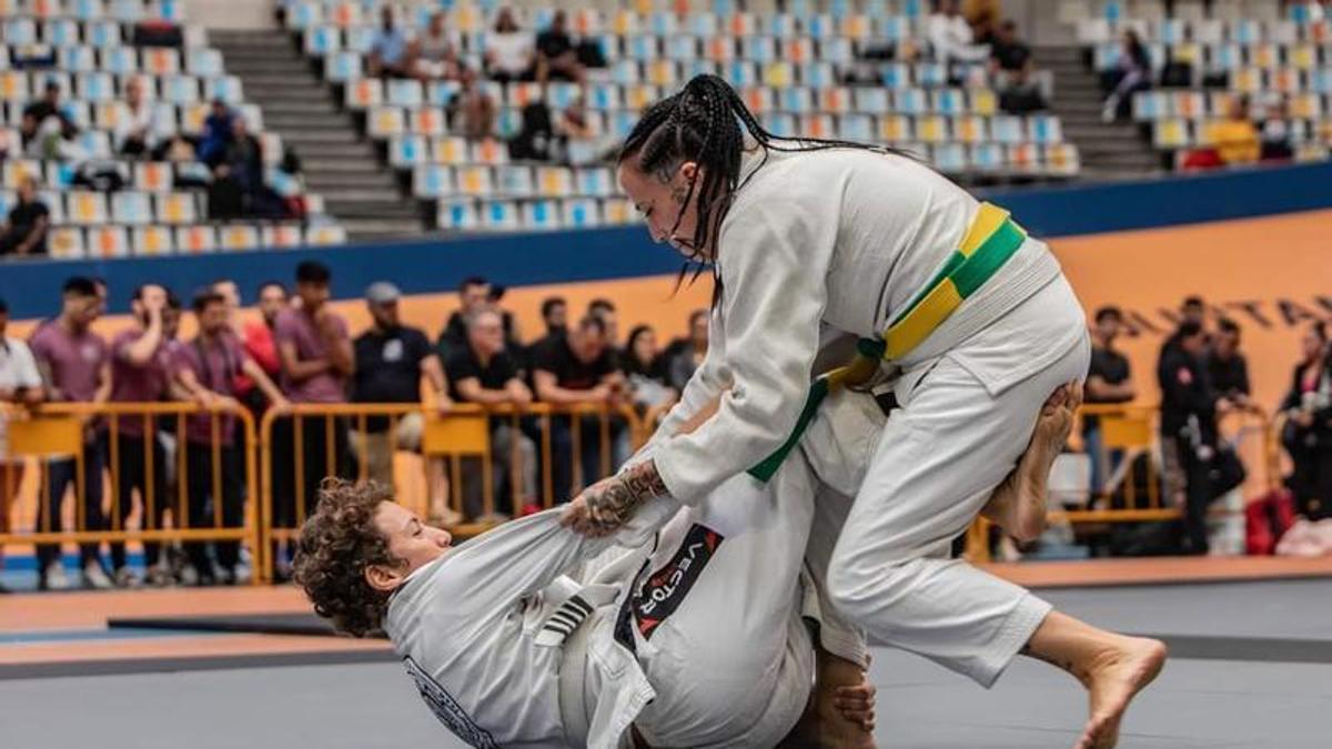
[(950, 558), (1026, 450), (1044, 400), (1087, 374), (1086, 321), (1060, 276), (944, 355), (914, 364), (836, 542), (827, 586), (880, 641), (990, 686), (1051, 610)]

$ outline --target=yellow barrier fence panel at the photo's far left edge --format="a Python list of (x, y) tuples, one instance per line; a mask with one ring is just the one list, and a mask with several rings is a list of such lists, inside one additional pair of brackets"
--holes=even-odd
[(127, 566), (127, 544), (148, 568), (178, 544), (204, 577), (208, 545), (234, 572), (244, 544), (258, 569), (258, 442), (244, 406), (52, 402), (0, 420), (0, 548), (35, 545), (39, 570), (64, 544), (80, 546), (80, 565), (107, 544), (113, 569)]

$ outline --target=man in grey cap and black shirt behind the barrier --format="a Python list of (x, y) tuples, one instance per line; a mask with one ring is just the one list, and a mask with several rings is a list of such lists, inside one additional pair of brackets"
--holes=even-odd
[[(418, 328), (404, 325), (398, 319), (398, 299), (402, 293), (388, 281), (370, 284), (365, 289), (365, 303), (374, 324), (353, 344), (356, 374), (352, 378), (353, 402), (421, 402), (421, 378), (425, 377), (433, 393), (434, 408), (442, 414), (453, 408), (449, 382), (444, 376), (440, 357), (430, 340)], [(360, 420), (350, 429), (352, 452), (365, 461), (370, 478), (393, 484), (393, 453), (421, 450), (425, 429), (424, 409), (397, 420), (390, 434), (390, 418), (370, 416), (362, 429)], [(432, 520), (453, 525), (462, 521), (449, 509), (449, 484), (441, 458), (425, 460), (426, 486), (430, 492)]]

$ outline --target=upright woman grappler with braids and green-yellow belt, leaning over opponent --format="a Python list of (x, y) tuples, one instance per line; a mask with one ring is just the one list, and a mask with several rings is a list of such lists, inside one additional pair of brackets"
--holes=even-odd
[(830, 598), (986, 686), (1018, 653), (1067, 670), (1090, 693), (1079, 746), (1112, 746), (1164, 646), (948, 554), (1042, 402), (1087, 372), (1082, 308), (1046, 245), (910, 157), (771, 135), (715, 76), (651, 107), (619, 159), (653, 239), (714, 265), (714, 351), (677, 408), (715, 413), (586, 489), (565, 522), (599, 534), (655, 497), (687, 505), (742, 472), (765, 478), (827, 392), (810, 382), (821, 333), (859, 336), (852, 380), (887, 360), (900, 409), (832, 553)]

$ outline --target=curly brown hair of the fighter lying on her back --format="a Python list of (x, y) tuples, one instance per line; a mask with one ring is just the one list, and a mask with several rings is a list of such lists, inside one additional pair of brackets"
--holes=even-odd
[(358, 486), (325, 478), (317, 509), (301, 526), (297, 541), (296, 582), (314, 604), (314, 613), (353, 637), (378, 634), (389, 608), (389, 593), (372, 588), (365, 570), (402, 564), (374, 525), (374, 514), (385, 501), (393, 501), (393, 489), (384, 484)]

